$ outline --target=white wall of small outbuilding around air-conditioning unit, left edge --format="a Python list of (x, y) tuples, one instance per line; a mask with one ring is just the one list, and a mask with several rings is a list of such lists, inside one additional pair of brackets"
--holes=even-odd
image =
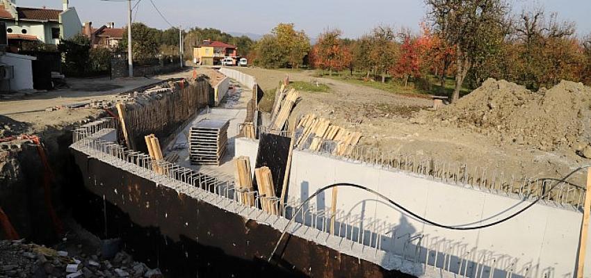
[(0, 56), (0, 63), (11, 65), (15, 69), (15, 78), (8, 82), (2, 81), (2, 90), (31, 90), (33, 89), (33, 65), (31, 60), (35, 57), (19, 54), (5, 54)]

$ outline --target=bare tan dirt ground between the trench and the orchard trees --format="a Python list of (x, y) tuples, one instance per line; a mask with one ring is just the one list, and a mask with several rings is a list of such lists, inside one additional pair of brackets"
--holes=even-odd
[[(503, 179), (562, 177), (589, 160), (572, 149), (542, 151), (531, 145), (503, 140), (492, 131), (478, 132), (448, 122), (419, 117), (432, 113), (430, 99), (406, 97), (333, 79), (314, 78), (312, 72), (240, 69), (257, 78), (261, 88), (276, 88), (289, 74), (291, 81), (318, 81), (330, 86), (327, 93), (302, 92), (290, 121), (316, 113), (341, 126), (362, 131), (360, 144), (384, 156), (410, 155), (417, 161), (467, 165), (470, 171), (487, 172)], [(584, 180), (581, 177), (581, 180)], [(579, 182), (581, 182), (579, 180)]]

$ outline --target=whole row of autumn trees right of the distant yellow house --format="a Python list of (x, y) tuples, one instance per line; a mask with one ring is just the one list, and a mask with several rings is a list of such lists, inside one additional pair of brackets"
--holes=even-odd
[[(319, 35), (307, 55), (289, 60), (288, 53), (307, 47), (307, 36), (286, 36), (279, 44), (280, 24), (254, 48), (254, 63), (264, 67), (310, 67), (329, 74), (349, 69), (365, 72), (365, 78), (382, 82), (391, 76), (430, 89), (433, 79), (444, 88), (448, 76), (455, 79), (452, 100), (463, 87), (476, 88), (485, 79), (507, 79), (531, 89), (549, 87), (561, 79), (591, 83), (591, 34), (576, 36), (572, 22), (560, 22), (556, 13), (542, 9), (511, 14), (503, 0), (425, 0), (427, 21), (421, 32), (377, 26), (357, 40), (341, 38), (341, 31)], [(293, 34), (293, 33), (292, 33)], [(298, 41), (302, 40), (302, 41)]]

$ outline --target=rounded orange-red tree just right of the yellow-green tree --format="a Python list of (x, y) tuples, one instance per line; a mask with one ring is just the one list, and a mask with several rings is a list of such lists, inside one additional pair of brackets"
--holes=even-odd
[(350, 49), (337, 29), (321, 33), (311, 52), (314, 67), (328, 70), (330, 75), (333, 70), (341, 71), (349, 67), (352, 60)]

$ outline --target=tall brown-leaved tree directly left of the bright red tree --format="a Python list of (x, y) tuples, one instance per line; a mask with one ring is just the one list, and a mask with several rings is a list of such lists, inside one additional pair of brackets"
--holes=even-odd
[(396, 33), (390, 26), (378, 26), (371, 33), (369, 59), (376, 71), (386, 81), (386, 74), (398, 55), (398, 45), (394, 41)]

